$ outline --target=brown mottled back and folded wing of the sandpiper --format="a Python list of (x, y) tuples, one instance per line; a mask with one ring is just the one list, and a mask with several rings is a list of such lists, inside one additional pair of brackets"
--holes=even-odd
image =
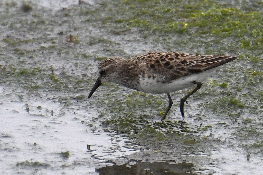
[[(202, 73), (236, 59), (228, 55), (191, 55), (178, 52), (153, 52), (136, 56), (128, 61), (134, 65), (146, 63), (145, 69), (152, 73), (158, 73), (170, 80), (180, 78), (183, 75)], [(142, 66), (141, 66), (142, 68)], [(142, 69), (141, 69), (142, 70)], [(148, 70), (148, 74), (149, 74)], [(169, 81), (170, 81), (169, 80)]]

